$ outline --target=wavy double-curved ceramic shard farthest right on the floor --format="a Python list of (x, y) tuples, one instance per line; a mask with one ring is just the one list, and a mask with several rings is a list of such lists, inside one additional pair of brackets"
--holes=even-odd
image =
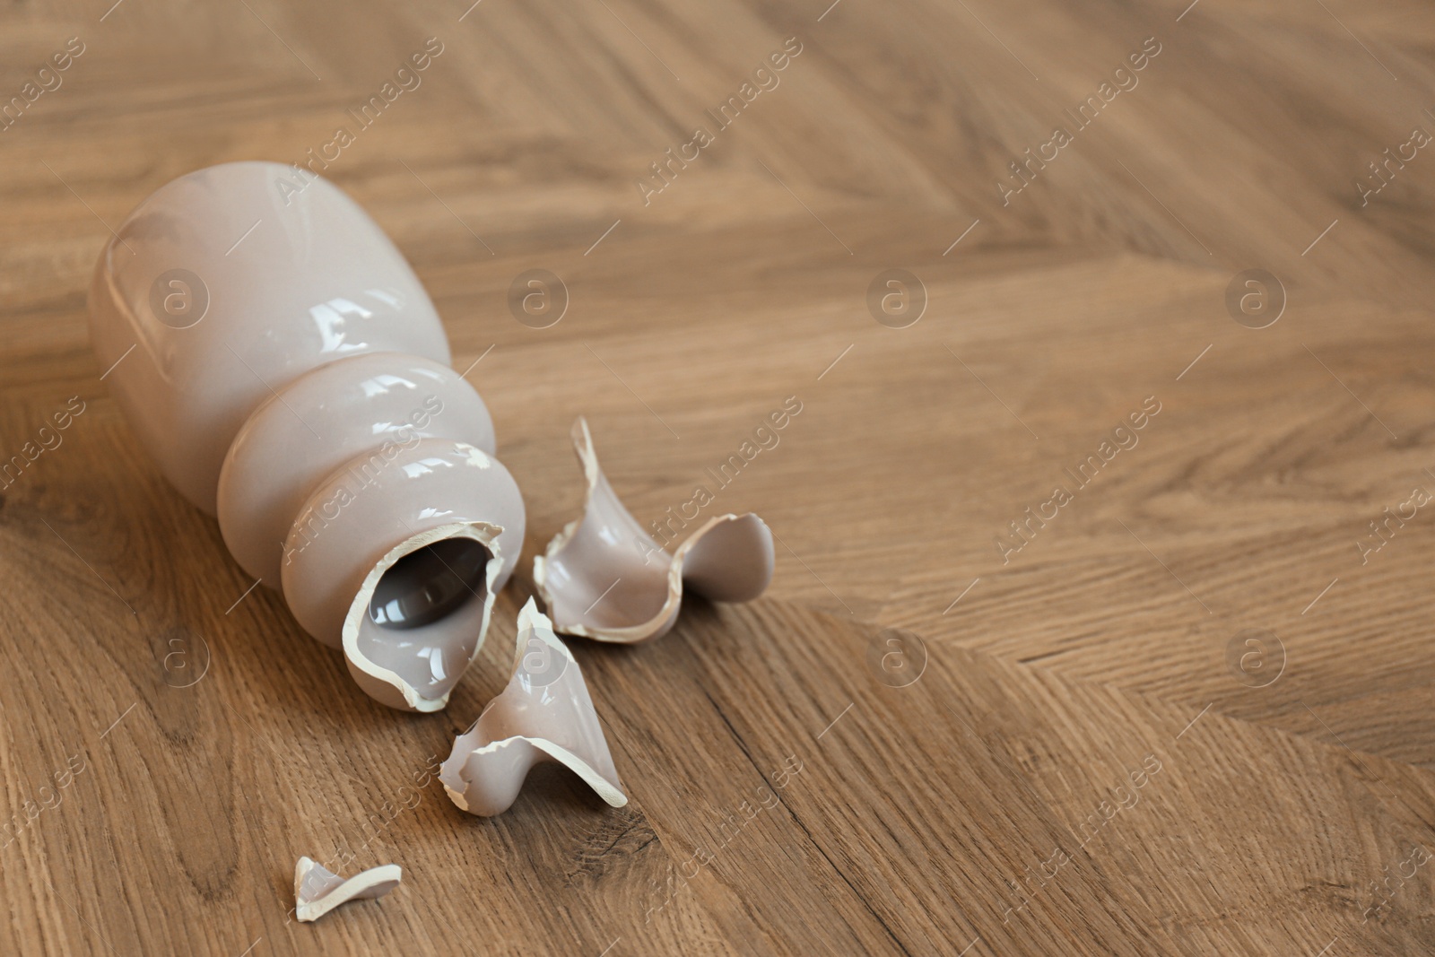
[(751, 601), (772, 581), (772, 531), (748, 512), (718, 515), (663, 550), (598, 468), (588, 423), (573, 425), (588, 484), (583, 517), (534, 558), (534, 584), (554, 627), (598, 641), (647, 641), (677, 621), (683, 587), (715, 601)]

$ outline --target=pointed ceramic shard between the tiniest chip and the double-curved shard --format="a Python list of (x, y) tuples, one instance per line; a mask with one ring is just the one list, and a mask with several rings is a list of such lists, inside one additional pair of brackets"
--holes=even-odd
[(507, 811), (547, 760), (571, 768), (614, 808), (627, 803), (583, 671), (530, 598), (518, 613), (514, 674), (453, 739), (439, 781), (453, 803), (486, 818)]

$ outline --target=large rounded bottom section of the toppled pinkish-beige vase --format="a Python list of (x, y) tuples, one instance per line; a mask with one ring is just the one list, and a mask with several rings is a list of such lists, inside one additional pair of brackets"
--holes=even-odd
[(237, 162), (161, 187), (116, 230), (90, 284), (90, 337), (115, 400), (165, 478), (210, 514), (230, 443), (276, 390), (370, 352), (449, 362), (438, 313), (383, 230), (326, 179), (286, 195), (291, 178)]

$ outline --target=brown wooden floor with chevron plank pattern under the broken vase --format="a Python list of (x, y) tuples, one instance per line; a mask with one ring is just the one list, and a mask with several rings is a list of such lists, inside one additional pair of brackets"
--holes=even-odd
[[(60, 82), (0, 132), (0, 458), (83, 407), (0, 489), (0, 951), (1435, 951), (1428, 4), (110, 1), (0, 13), (0, 100)], [(705, 485), (779, 538), (751, 605), (574, 640), (620, 811), (545, 769), (471, 818), (426, 770), (527, 557), (449, 709), (390, 712), (100, 380), (109, 228), (340, 126), (327, 175), (482, 357), (528, 554), (580, 413), (644, 522)], [(405, 881), (301, 925), (300, 855)]]

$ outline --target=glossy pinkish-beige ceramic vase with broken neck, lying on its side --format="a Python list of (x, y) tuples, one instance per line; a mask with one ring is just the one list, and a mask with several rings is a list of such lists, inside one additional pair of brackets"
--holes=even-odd
[(201, 169), (125, 220), (89, 308), (131, 429), (235, 561), (372, 697), (443, 707), (518, 561), (524, 504), (379, 225), (280, 164)]

